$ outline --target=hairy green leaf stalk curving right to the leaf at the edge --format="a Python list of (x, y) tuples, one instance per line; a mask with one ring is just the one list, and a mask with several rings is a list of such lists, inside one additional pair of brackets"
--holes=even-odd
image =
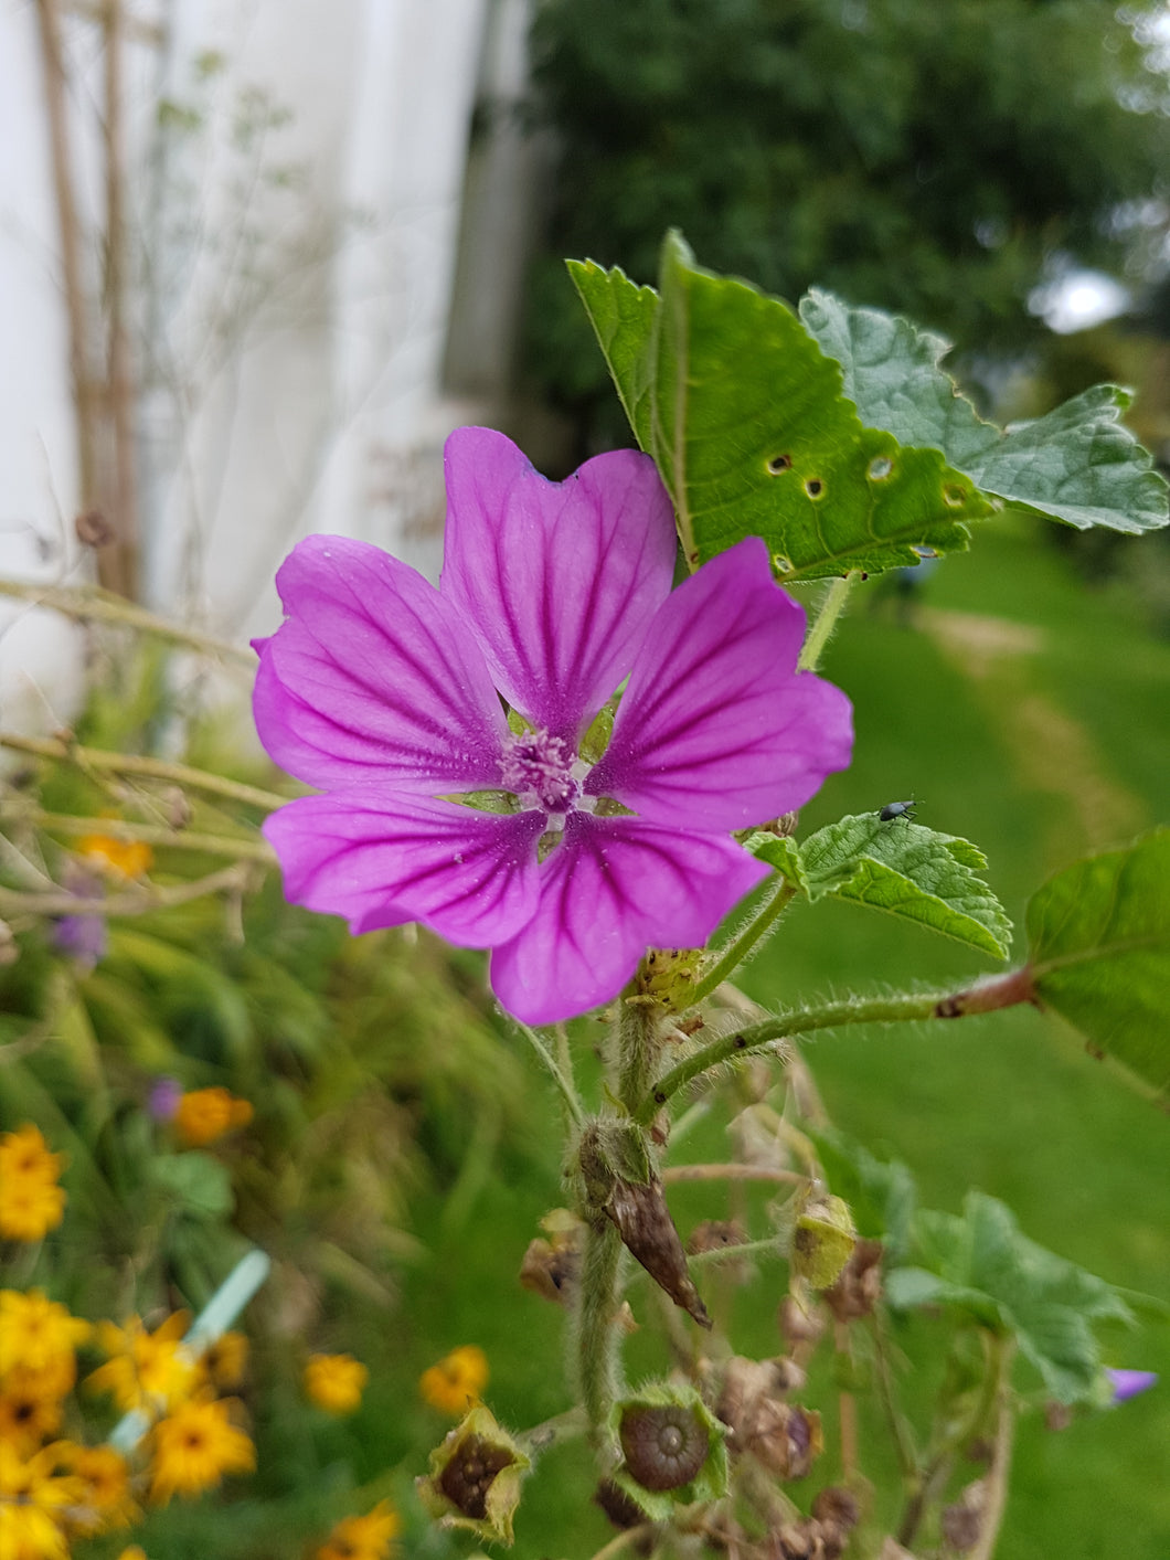
[(1031, 970), (1012, 970), (991, 981), (958, 992), (905, 992), (894, 997), (850, 997), (827, 1002), (819, 1008), (796, 1008), (775, 1019), (721, 1034), (708, 1045), (685, 1056), (654, 1084), (635, 1109), (636, 1122), (649, 1123), (663, 1104), (693, 1078), (719, 1067), (736, 1056), (775, 1048), (780, 1041), (814, 1030), (835, 1030), (846, 1023), (916, 1023), (924, 1019), (963, 1019), (975, 1012), (994, 1012), (1020, 1002), (1034, 1002)]

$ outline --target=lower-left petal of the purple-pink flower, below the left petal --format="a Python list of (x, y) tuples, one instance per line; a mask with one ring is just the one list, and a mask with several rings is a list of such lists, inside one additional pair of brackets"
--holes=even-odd
[(290, 802), (264, 833), (290, 903), (351, 931), (423, 920), (463, 947), (512, 938), (540, 899), (543, 813), (476, 813), (379, 786)]

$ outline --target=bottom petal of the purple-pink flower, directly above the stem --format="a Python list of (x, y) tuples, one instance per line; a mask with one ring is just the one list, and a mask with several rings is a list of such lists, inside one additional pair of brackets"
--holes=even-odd
[(540, 869), (534, 919), (491, 955), (491, 984), (526, 1023), (588, 1012), (647, 947), (702, 947), (768, 867), (719, 835), (574, 813)]

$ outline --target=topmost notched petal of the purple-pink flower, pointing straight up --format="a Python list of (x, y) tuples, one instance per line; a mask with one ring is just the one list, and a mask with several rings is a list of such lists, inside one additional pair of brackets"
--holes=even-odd
[(509, 704), (576, 741), (671, 588), (674, 516), (654, 462), (619, 449), (548, 482), (487, 427), (457, 429), (445, 460), (440, 590)]

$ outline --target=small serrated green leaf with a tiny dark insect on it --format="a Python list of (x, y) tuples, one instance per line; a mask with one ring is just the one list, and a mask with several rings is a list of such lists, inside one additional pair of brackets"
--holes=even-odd
[(905, 916), (995, 958), (1006, 958), (1011, 922), (977, 874), (987, 861), (969, 839), (905, 817), (842, 817), (800, 846), (810, 899), (838, 899)]

